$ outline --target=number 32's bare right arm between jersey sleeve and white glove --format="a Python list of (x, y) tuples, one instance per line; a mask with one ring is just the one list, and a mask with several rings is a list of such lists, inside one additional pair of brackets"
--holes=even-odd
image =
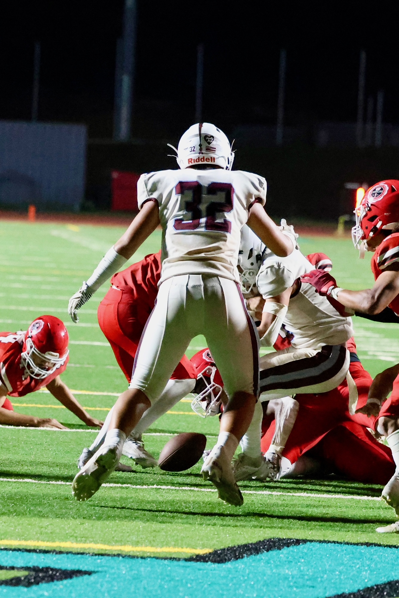
[(287, 257), (294, 251), (294, 243), (291, 238), (281, 232), (260, 203), (256, 202), (249, 208), (249, 217), (246, 224), (249, 228), (252, 228), (273, 254), (279, 257)]

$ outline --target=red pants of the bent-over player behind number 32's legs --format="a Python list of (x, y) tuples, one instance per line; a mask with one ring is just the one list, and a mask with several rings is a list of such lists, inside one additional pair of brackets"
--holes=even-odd
[[(148, 307), (133, 292), (112, 287), (98, 306), (100, 328), (129, 383), (140, 338), (150, 313)], [(196, 369), (184, 355), (171, 376), (172, 380), (196, 377)]]

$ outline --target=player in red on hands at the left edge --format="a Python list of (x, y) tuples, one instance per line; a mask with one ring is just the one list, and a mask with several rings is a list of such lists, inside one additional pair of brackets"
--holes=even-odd
[(26, 332), (0, 332), (0, 423), (9, 426), (66, 429), (56, 419), (16, 413), (8, 396), (47, 388), (87, 426), (102, 426), (72, 395), (60, 374), (68, 364), (68, 331), (54, 316), (39, 316)]

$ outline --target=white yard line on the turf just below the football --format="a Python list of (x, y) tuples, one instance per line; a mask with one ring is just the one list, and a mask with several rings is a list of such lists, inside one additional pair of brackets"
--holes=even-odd
[[(31, 480), (31, 478), (22, 478), (20, 480), (16, 478), (0, 478), (3, 482), (13, 483), (30, 483), (30, 484), (55, 484), (56, 486), (71, 486), (70, 482), (64, 481), (43, 481), (43, 480)], [(217, 492), (214, 488), (195, 488), (190, 486), (160, 486), (159, 484), (139, 486), (136, 484), (102, 484), (107, 488), (133, 488), (138, 490), (186, 490), (188, 492)], [(330, 499), (354, 499), (356, 501), (380, 501), (379, 496), (355, 496), (345, 494), (319, 494), (313, 492), (278, 492), (275, 490), (241, 490), (243, 494), (256, 494), (263, 496), (301, 496), (302, 498), (330, 498)]]

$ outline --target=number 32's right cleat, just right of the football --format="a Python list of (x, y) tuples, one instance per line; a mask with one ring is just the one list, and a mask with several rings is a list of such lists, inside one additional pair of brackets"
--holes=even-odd
[(218, 497), (234, 507), (240, 507), (244, 499), (234, 480), (232, 463), (227, 459), (224, 448), (220, 447), (218, 455), (210, 454), (201, 469), (204, 480), (209, 480), (217, 487)]

